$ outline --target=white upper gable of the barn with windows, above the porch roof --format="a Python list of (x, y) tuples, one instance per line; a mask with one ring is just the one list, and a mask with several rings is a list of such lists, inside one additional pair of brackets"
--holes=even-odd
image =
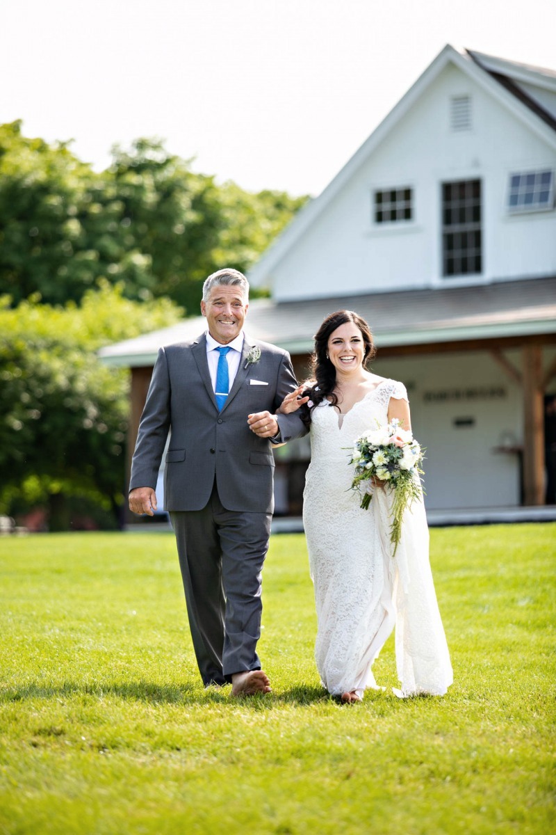
[(556, 72), (447, 46), (250, 278), (279, 302), (553, 276), (555, 154)]

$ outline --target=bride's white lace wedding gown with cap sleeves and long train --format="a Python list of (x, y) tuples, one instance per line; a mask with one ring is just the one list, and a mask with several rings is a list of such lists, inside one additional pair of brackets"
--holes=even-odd
[(408, 399), (401, 382), (383, 380), (345, 415), (328, 401), (313, 409), (311, 463), (303, 523), (318, 617), (315, 658), (333, 695), (375, 688), (373, 660), (396, 625), (398, 696), (442, 696), (453, 681), (448, 646), (428, 562), (423, 500), (403, 519), (392, 557), (387, 489), (368, 510), (350, 489), (353, 442), (388, 423), (390, 397)]

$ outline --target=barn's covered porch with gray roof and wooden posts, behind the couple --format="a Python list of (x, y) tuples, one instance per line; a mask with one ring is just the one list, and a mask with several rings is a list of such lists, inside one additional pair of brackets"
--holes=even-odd
[[(556, 277), (322, 300), (253, 301), (247, 330), (290, 352), (308, 374), (313, 333), (328, 313), (357, 311), (373, 328), (373, 371), (408, 385), (413, 428), (428, 447), (429, 514), (540, 508), (553, 473), (556, 414)], [(199, 316), (106, 347), (103, 362), (131, 371), (128, 463), (158, 347), (197, 337)], [(308, 445), (277, 451), (277, 511), (301, 512)], [(448, 493), (447, 493), (448, 491)], [(431, 519), (433, 517), (431, 516)]]

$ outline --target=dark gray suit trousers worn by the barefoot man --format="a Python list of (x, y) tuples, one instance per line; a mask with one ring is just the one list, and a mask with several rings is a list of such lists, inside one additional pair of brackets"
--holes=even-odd
[(216, 483), (202, 510), (170, 513), (198, 668), (206, 685), (260, 670), (261, 583), (271, 515), (227, 510)]

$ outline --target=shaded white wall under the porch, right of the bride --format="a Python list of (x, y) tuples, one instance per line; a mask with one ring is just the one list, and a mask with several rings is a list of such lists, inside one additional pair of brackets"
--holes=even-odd
[[(373, 371), (408, 386), (413, 433), (427, 448), (424, 462), (425, 504), (428, 509), (517, 507), (519, 458), (501, 446), (523, 446), (522, 388), (501, 370), (488, 352), (449, 353), (434, 357), (378, 359)], [(505, 352), (513, 366), (521, 367), (521, 352)], [(545, 349), (544, 367), (556, 357)], [(549, 391), (556, 387), (553, 380)], [(474, 399), (431, 400), (430, 392), (483, 392)], [(502, 397), (488, 397), (488, 391)], [(485, 396), (486, 395), (486, 396)], [(473, 418), (468, 427), (454, 420)]]

